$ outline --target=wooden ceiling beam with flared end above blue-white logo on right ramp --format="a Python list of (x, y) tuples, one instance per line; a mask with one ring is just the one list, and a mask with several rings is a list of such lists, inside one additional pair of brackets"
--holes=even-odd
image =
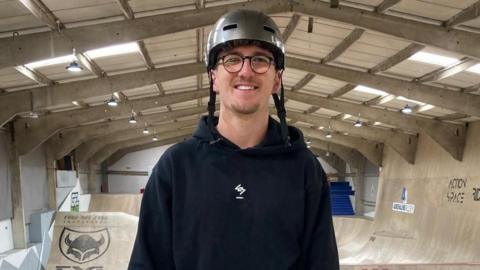
[(330, 129), (340, 133), (347, 132), (351, 136), (385, 143), (393, 150), (395, 150), (398, 154), (400, 154), (400, 156), (408, 163), (415, 163), (415, 154), (417, 152), (418, 144), (417, 136), (388, 129), (380, 129), (366, 126), (354, 127), (352, 123), (348, 123), (345, 121), (321, 118), (292, 111), (288, 112), (288, 116), (292, 119), (309, 123), (315, 126), (328, 126)]

